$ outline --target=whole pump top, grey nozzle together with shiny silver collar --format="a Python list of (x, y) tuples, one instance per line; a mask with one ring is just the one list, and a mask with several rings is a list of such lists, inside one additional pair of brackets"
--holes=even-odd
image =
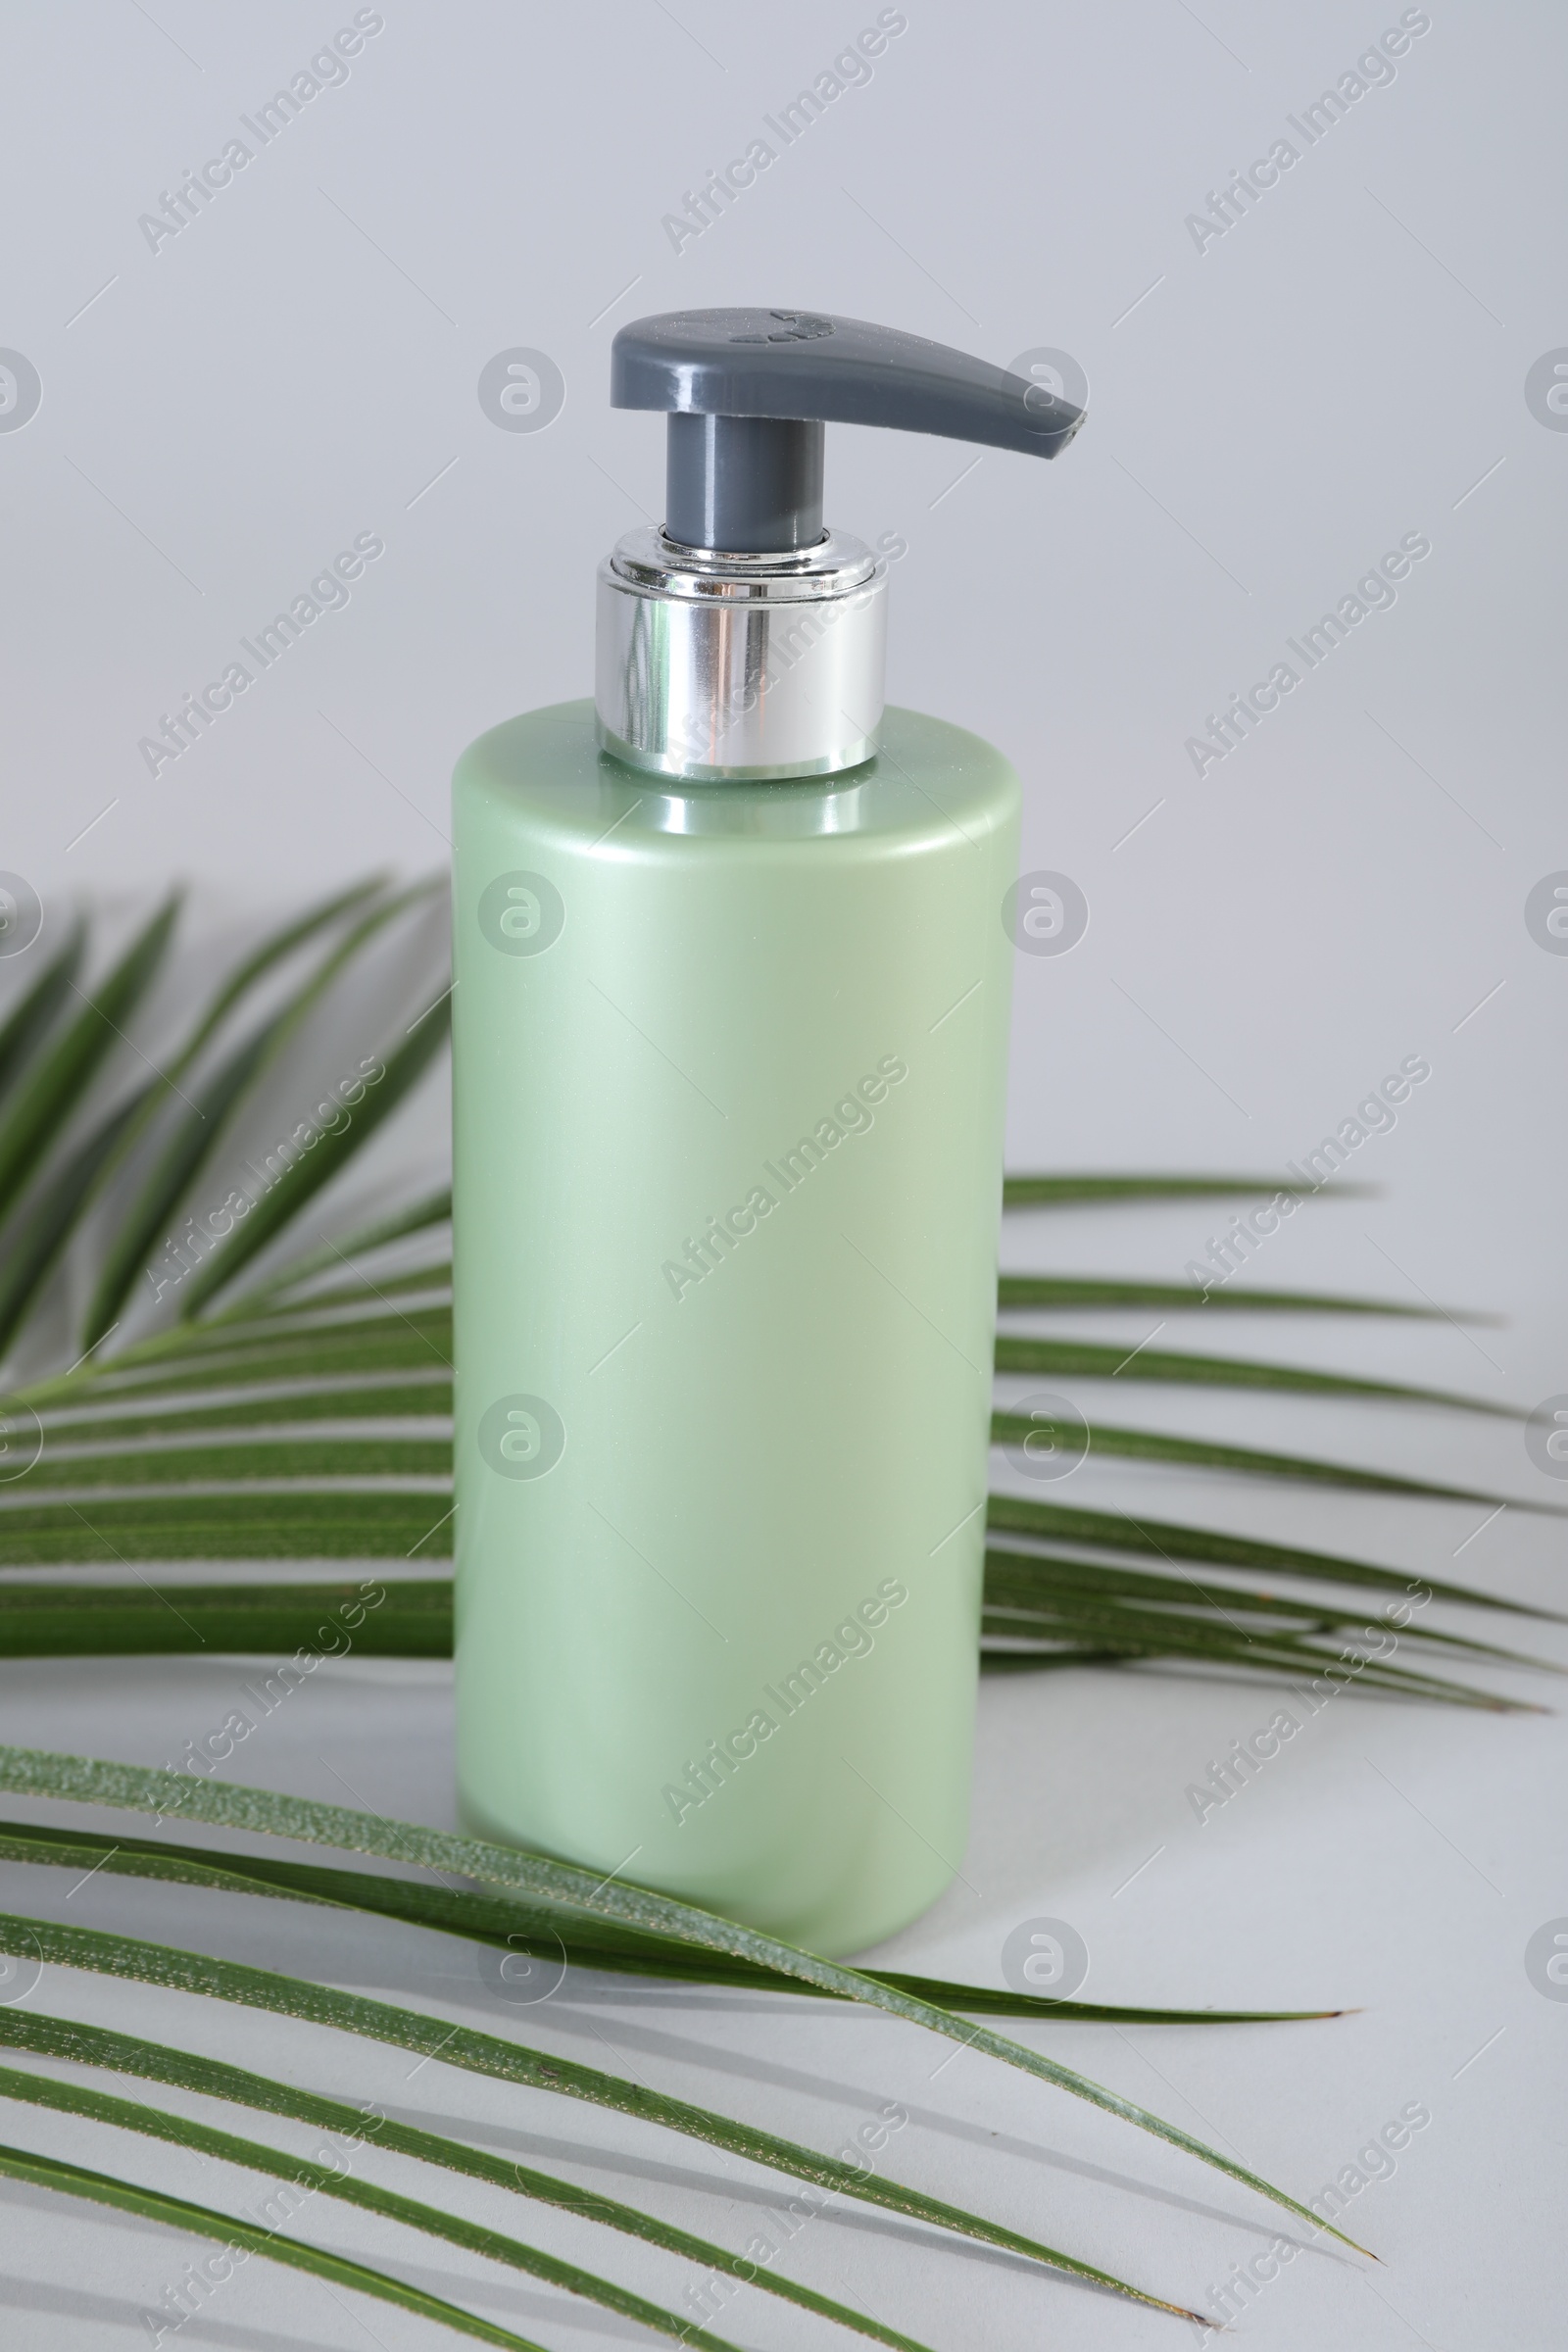
[(830, 776), (877, 748), (886, 564), (823, 529), (825, 423), (1056, 456), (1084, 421), (961, 350), (811, 310), (637, 320), (609, 397), (670, 423), (663, 532), (599, 569), (599, 743), (686, 779)]

